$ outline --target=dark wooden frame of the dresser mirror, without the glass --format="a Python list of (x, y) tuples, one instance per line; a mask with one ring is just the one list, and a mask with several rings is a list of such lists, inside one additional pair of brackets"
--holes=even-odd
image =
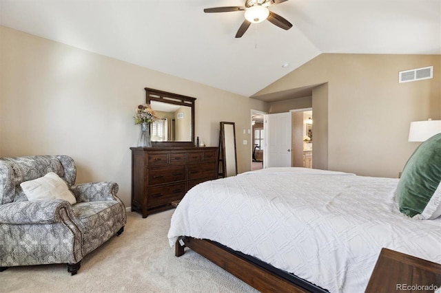
[(152, 100), (157, 102), (166, 102), (167, 104), (182, 105), (192, 108), (192, 141), (190, 142), (152, 142), (152, 146), (194, 146), (194, 102), (196, 98), (183, 96), (180, 94), (172, 94), (167, 91), (158, 89), (150, 89), (145, 87), (145, 102), (150, 104)]

